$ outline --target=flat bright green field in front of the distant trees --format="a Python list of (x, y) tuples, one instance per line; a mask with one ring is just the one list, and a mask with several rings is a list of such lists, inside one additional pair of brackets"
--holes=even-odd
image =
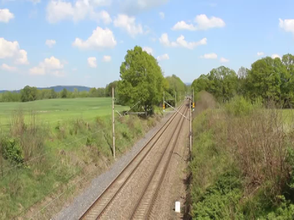
[[(54, 123), (67, 119), (94, 119), (96, 116), (112, 114), (111, 98), (46, 99), (32, 102), (0, 103), (0, 123), (8, 125), (14, 111), (21, 109), (28, 116), (34, 111), (40, 120)], [(115, 110), (128, 110), (127, 106), (116, 105)]]

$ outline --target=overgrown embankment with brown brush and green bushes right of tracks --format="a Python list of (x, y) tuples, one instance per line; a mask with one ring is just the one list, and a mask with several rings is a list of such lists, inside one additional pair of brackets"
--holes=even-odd
[(207, 97), (193, 120), (192, 218), (293, 219), (292, 112), (237, 97), (209, 108)]

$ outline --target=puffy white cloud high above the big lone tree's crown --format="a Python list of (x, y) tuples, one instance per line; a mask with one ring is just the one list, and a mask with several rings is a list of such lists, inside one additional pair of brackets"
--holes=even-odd
[(134, 16), (128, 16), (126, 14), (119, 14), (113, 21), (114, 26), (119, 27), (128, 32), (131, 37), (135, 37), (137, 34), (143, 33), (141, 24), (136, 24), (136, 18)]

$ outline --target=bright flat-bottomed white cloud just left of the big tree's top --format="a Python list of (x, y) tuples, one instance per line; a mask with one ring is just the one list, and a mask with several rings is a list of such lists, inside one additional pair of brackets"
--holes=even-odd
[(114, 48), (116, 40), (111, 30), (97, 27), (87, 40), (83, 41), (80, 38), (76, 38), (72, 45), (79, 49), (101, 50), (103, 48)]

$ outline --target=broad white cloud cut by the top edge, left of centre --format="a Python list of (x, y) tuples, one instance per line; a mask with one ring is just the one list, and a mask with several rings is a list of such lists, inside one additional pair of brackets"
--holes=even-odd
[(108, 24), (112, 21), (107, 11), (96, 12), (96, 6), (109, 4), (106, 0), (76, 0), (75, 3), (64, 0), (51, 0), (46, 8), (46, 18), (50, 23), (62, 20), (80, 21), (89, 18)]

